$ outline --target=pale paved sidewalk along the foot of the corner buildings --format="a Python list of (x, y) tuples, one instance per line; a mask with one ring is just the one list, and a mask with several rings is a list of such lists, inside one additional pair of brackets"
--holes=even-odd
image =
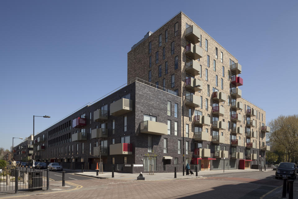
[[(68, 170), (68, 169), (65, 169)], [(89, 172), (83, 172), (81, 173), (79, 170), (76, 170), (77, 172), (74, 174), (77, 175), (84, 175), (84, 176), (90, 176), (90, 177), (98, 177), (98, 178), (111, 178), (112, 172), (104, 171), (103, 174), (98, 174), (96, 176), (95, 171), (89, 171)], [(194, 175), (184, 175), (182, 172), (177, 173), (177, 179), (187, 179), (187, 178), (202, 178), (205, 175), (210, 174), (223, 174), (223, 173), (235, 173), (235, 172), (260, 172), (257, 169), (233, 169), (233, 170), (213, 170), (213, 171), (200, 171), (198, 172), (198, 176), (196, 177), (196, 173), (194, 172)], [(120, 180), (136, 180), (139, 174), (128, 174), (128, 173), (118, 173), (114, 172), (114, 179), (120, 179)], [(154, 175), (149, 175), (148, 173), (144, 173), (143, 176), (145, 177), (145, 180), (169, 180), (169, 179), (175, 179), (174, 173), (155, 173)]]

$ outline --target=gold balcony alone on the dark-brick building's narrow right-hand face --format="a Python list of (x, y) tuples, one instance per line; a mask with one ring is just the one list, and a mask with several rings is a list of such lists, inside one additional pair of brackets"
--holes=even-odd
[(167, 135), (168, 125), (154, 121), (143, 121), (140, 123), (140, 132), (153, 135)]

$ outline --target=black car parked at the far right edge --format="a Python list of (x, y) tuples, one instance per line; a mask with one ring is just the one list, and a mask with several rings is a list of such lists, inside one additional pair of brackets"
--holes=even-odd
[(275, 172), (275, 179), (277, 178), (287, 178), (296, 179), (297, 171), (296, 164), (290, 162), (281, 162), (278, 164), (277, 170)]

